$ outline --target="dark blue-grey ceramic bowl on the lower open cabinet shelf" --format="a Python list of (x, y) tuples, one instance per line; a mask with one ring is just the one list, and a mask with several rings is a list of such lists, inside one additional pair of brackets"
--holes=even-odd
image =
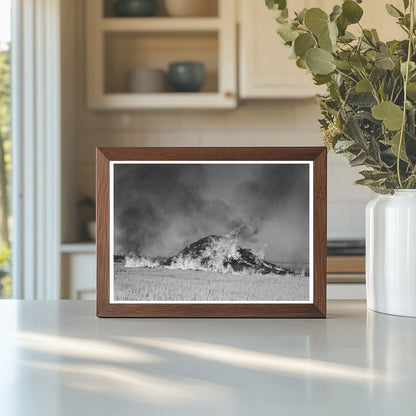
[(202, 62), (172, 62), (169, 81), (176, 92), (198, 92), (205, 81), (205, 66)]

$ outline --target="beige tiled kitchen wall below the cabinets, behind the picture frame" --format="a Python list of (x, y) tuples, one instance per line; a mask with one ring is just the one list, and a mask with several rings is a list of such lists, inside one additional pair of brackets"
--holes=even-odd
[[(319, 107), (314, 99), (242, 102), (233, 111), (92, 112), (85, 106), (85, 50), (83, 1), (75, 1), (75, 40), (66, 50), (67, 89), (73, 85), (71, 135), (64, 145), (64, 210), (74, 211), (79, 198), (95, 192), (96, 146), (311, 146), (321, 145)], [(72, 166), (72, 177), (68, 166)], [(351, 169), (329, 155), (328, 236), (364, 236), (364, 207), (372, 193), (354, 185), (359, 169)], [(65, 185), (67, 186), (67, 185)], [(65, 215), (64, 215), (65, 218)], [(65, 221), (64, 221), (65, 222)], [(64, 241), (76, 239), (74, 227), (64, 230)]]

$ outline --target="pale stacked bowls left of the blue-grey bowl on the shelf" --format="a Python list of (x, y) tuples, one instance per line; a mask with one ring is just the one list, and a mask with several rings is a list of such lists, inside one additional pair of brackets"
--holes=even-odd
[(167, 84), (167, 75), (162, 69), (136, 68), (129, 72), (128, 91), (131, 93), (166, 92)]

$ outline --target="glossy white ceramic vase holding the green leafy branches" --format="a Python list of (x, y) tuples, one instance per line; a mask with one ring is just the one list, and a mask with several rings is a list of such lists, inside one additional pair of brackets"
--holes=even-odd
[(368, 203), (366, 281), (369, 309), (416, 317), (416, 190)]

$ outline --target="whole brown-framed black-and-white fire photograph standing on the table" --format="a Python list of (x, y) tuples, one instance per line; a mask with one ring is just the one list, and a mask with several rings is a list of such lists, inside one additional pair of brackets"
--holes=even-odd
[(97, 149), (97, 316), (326, 315), (324, 147)]

